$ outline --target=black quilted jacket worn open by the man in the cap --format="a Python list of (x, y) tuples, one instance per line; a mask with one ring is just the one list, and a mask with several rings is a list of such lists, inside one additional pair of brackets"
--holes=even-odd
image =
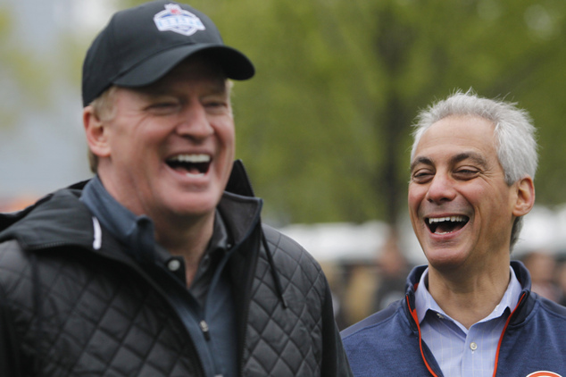
[[(237, 195), (219, 205), (237, 239), (229, 272), (238, 375), (352, 375), (320, 266), (261, 225), (261, 201), (242, 173), (236, 164)], [(0, 215), (0, 376), (204, 376), (160, 287), (104, 229), (96, 233), (82, 186)]]

